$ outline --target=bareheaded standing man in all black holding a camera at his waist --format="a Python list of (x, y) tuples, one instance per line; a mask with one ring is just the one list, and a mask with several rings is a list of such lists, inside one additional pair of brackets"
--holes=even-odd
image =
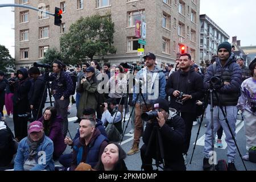
[(171, 96), (171, 106), (177, 110), (185, 122), (183, 157), (186, 162), (191, 139), (193, 120), (196, 117), (196, 101), (203, 97), (203, 79), (191, 69), (191, 55), (180, 55), (180, 69), (171, 74), (166, 84), (166, 93)]

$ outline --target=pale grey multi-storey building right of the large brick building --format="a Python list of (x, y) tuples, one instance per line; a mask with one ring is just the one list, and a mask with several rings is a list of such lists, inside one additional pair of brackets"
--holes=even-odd
[(213, 55), (217, 55), (218, 45), (228, 41), (229, 38), (230, 36), (207, 15), (200, 15), (200, 62), (210, 60)]

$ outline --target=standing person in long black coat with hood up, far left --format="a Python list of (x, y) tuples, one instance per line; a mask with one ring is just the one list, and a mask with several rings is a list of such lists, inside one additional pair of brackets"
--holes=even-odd
[(19, 115), (27, 115), (30, 113), (30, 102), (28, 100), (28, 92), (31, 87), (31, 81), (28, 78), (27, 69), (20, 68), (17, 71), (18, 81), (10, 81), (10, 89), (13, 90), (13, 122), (15, 139), (19, 142), (27, 137), (27, 117), (19, 117)]

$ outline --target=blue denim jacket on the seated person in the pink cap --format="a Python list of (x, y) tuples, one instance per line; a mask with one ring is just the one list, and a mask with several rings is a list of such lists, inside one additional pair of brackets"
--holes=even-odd
[[(43, 142), (36, 150), (37, 155), (35, 161), (38, 163), (36, 166), (31, 168), (31, 171), (54, 171), (54, 162), (52, 159), (53, 154), (53, 142), (48, 137), (44, 136)], [(29, 157), (29, 146), (27, 143), (27, 137), (23, 138), (17, 150), (16, 157), (14, 159), (14, 171), (23, 171), (24, 162)]]

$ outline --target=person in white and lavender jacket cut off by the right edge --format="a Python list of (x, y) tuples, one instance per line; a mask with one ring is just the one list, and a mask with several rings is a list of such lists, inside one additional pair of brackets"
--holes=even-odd
[(249, 148), (256, 146), (256, 59), (250, 65), (251, 77), (242, 82), (242, 95), (237, 107), (245, 119), (246, 154), (243, 160), (249, 160)]

